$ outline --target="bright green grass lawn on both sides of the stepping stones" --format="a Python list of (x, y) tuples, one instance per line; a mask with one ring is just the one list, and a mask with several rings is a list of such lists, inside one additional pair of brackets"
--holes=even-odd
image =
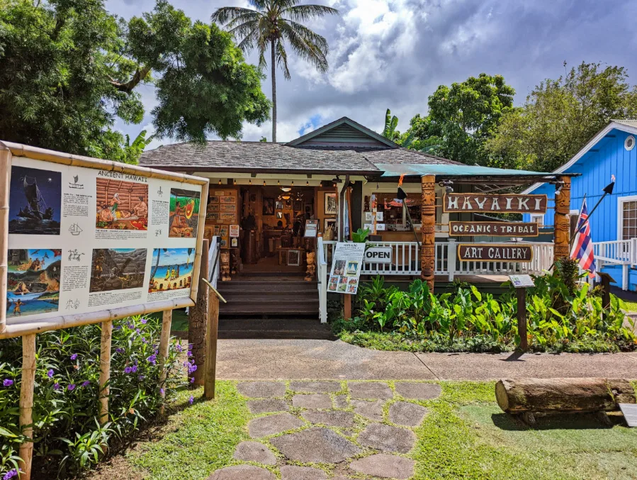
[[(635, 479), (637, 429), (604, 428), (588, 415), (539, 418), (535, 430), (505, 415), (495, 403), (491, 382), (440, 382), (435, 400), (413, 401), (429, 410), (415, 428), (415, 447), (405, 457), (415, 459), (413, 479)], [(392, 389), (392, 381), (388, 384)], [(205, 479), (215, 469), (239, 464), (235, 446), (249, 440), (251, 415), (236, 382), (219, 381), (215, 401), (201, 401), (202, 389), (184, 391), (166, 425), (145, 432), (125, 455), (113, 458), (86, 478)], [(342, 382), (342, 392), (347, 391)], [(196, 398), (192, 406), (187, 399)], [(286, 398), (291, 398), (288, 390)], [(385, 404), (385, 423), (388, 408)], [(351, 407), (347, 408), (351, 410)], [(298, 408), (291, 408), (298, 414)], [(615, 420), (619, 423), (620, 418)], [(353, 429), (334, 431), (356, 441), (369, 420), (356, 416)], [(278, 435), (274, 435), (278, 436)], [(261, 439), (274, 450), (269, 438)], [(369, 450), (366, 451), (366, 454)], [(276, 452), (279, 461), (281, 456)], [(328, 464), (308, 464), (333, 473)], [(266, 467), (280, 478), (278, 467)], [(352, 475), (355, 479), (368, 477)], [(249, 480), (249, 479), (246, 479)]]

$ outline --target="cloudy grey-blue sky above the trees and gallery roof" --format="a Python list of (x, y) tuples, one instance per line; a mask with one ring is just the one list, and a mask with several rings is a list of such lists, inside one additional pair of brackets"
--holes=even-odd
[[(310, 3), (312, 0), (305, 1)], [(247, 0), (173, 0), (191, 18), (210, 21), (220, 6)], [(563, 62), (623, 65), (637, 83), (637, 2), (619, 0), (313, 0), (339, 9), (337, 17), (308, 24), (329, 42), (329, 72), (291, 58), (291, 81), (277, 75), (278, 141), (292, 140), (342, 116), (381, 130), (385, 109), (405, 130), (440, 84), (480, 72), (502, 74), (516, 102), (545, 78), (563, 74)], [(107, 0), (109, 11), (139, 16), (154, 0)], [(257, 62), (256, 55), (248, 60)], [(269, 69), (268, 69), (269, 72)], [(266, 73), (268, 73), (266, 72)], [(269, 73), (268, 73), (269, 74)], [(264, 92), (271, 95), (269, 78)], [(142, 89), (146, 111), (156, 104), (152, 86)], [(140, 125), (116, 125), (133, 137), (152, 131), (150, 114)], [(271, 124), (246, 124), (244, 140), (271, 140)], [(170, 143), (164, 138), (151, 145)]]

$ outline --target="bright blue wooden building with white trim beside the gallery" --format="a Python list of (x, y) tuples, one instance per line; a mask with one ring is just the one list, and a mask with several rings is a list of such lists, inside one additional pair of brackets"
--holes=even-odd
[[(594, 253), (602, 272), (624, 289), (637, 289), (637, 120), (614, 120), (554, 173), (575, 173), (571, 184), (571, 231), (586, 196), (589, 211), (612, 179), (615, 188), (591, 218)], [(555, 195), (555, 185), (537, 183), (525, 194)], [(524, 221), (553, 225), (553, 205), (543, 216), (524, 215)], [(599, 268), (599, 267), (598, 267)]]

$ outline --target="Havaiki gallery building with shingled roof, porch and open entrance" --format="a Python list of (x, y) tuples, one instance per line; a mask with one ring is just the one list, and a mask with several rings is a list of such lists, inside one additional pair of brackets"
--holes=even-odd
[[(144, 152), (140, 164), (210, 179), (205, 233), (220, 238), (228, 254), (222, 267), (225, 259), (232, 281), (220, 289), (238, 300), (222, 306), (222, 316), (319, 311), (325, 321), (334, 244), (359, 228), (372, 230), (370, 244), (391, 250), (390, 261), (363, 265), (363, 279), (421, 277), (436, 289), (454, 279), (500, 284), (504, 275), (551, 267), (553, 242), (537, 241), (538, 225), (507, 227), (502, 213), (555, 210), (558, 255), (568, 255), (570, 175), (470, 166), (407, 150), (346, 117), (288, 143), (163, 145)], [(541, 204), (494, 195), (534, 182), (555, 184)], [(497, 248), (478, 248), (472, 257), (458, 248), (465, 243)], [(303, 278), (308, 259), (310, 270), (316, 265), (312, 281)]]

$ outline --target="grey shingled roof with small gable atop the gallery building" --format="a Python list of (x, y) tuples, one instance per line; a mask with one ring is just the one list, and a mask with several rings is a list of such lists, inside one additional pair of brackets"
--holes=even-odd
[[(205, 145), (162, 145), (142, 154), (140, 164), (191, 172), (259, 172), (307, 174), (382, 174), (376, 164), (458, 164), (393, 142), (358, 123), (342, 118), (320, 128), (318, 135), (303, 135), (290, 143), (210, 140)], [(356, 132), (354, 132), (356, 130)], [(307, 139), (312, 144), (308, 145)]]

